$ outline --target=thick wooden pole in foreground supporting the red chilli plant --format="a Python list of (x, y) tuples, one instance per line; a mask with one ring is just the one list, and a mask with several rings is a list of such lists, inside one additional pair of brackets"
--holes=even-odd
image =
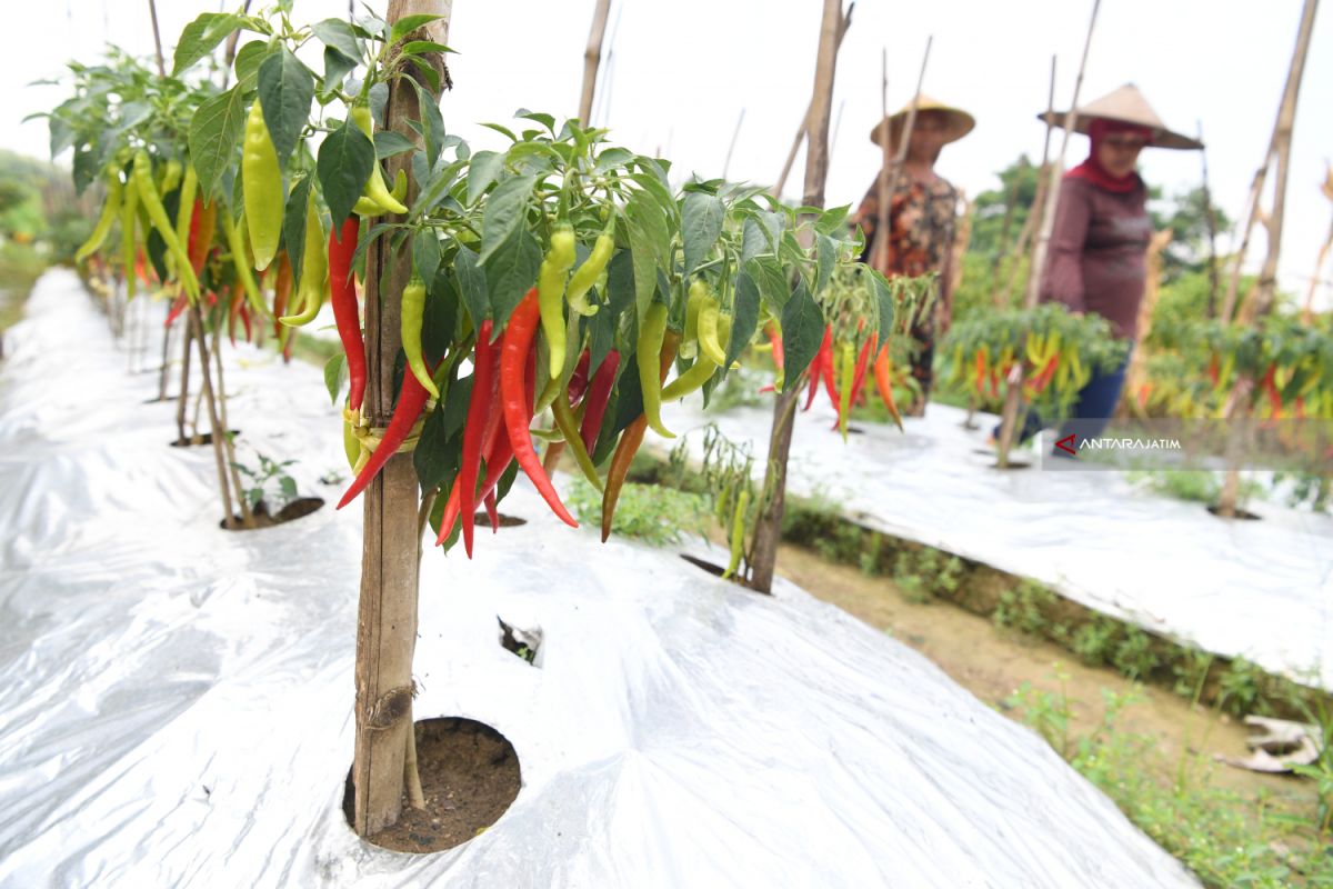
[[(408, 15), (443, 16), (425, 25), (431, 40), (448, 43), (452, 0), (391, 0), (388, 21)], [(439, 57), (432, 64), (444, 71)], [(408, 127), (420, 120), (411, 84), (389, 87), (385, 125), (420, 144)], [(409, 155), (389, 159), (389, 173), (409, 164)], [(416, 188), (412, 183), (411, 188)], [(409, 195), (411, 199), (411, 195)], [(411, 204), (411, 200), (408, 201)], [(379, 239), (365, 264), (365, 416), (372, 428), (388, 425), (393, 408), (395, 356), (401, 347), (401, 295), (412, 275), (412, 257), (393, 253)], [(371, 836), (397, 821), (412, 752), (412, 656), (416, 649), (420, 540), (419, 482), (412, 454), (389, 458), (363, 494), (364, 544), (356, 629), (356, 788), (353, 826)]]

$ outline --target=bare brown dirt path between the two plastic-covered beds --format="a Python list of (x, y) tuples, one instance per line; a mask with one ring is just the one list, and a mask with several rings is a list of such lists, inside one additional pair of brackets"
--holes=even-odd
[[(1133, 688), (1113, 670), (1085, 666), (1048, 641), (998, 629), (989, 618), (948, 602), (909, 602), (890, 580), (866, 577), (802, 546), (782, 545), (777, 569), (813, 596), (917, 649), (956, 682), (1001, 712), (1006, 709), (1001, 702), (1024, 682), (1058, 692), (1054, 666), (1058, 664), (1058, 672), (1068, 674), (1065, 693), (1073, 708), (1073, 737), (1096, 728), (1102, 714), (1101, 689), (1128, 693)], [(1278, 808), (1302, 814), (1313, 810), (1316, 793), (1309, 781), (1257, 774), (1209, 761), (1214, 753), (1248, 754), (1246, 732), (1237, 720), (1192, 708), (1189, 701), (1165, 689), (1148, 688), (1142, 696), (1141, 702), (1124, 710), (1118, 725), (1122, 730), (1156, 738), (1160, 756), (1144, 765), (1165, 786), (1174, 782), (1182, 753), (1201, 753), (1202, 761), (1186, 756), (1190, 781), (1201, 780), (1206, 769), (1214, 786), (1233, 789), (1246, 798), (1264, 793)]]

